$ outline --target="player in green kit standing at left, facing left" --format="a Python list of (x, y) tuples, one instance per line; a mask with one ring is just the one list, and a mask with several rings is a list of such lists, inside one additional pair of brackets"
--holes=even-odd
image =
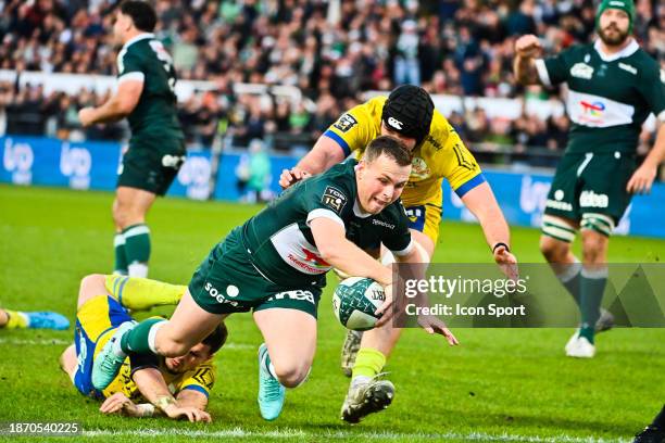
[(84, 107), (84, 126), (127, 117), (129, 149), (120, 168), (113, 221), (114, 274), (148, 276), (150, 229), (146, 215), (164, 195), (185, 162), (185, 136), (177, 118), (176, 76), (171, 55), (152, 30), (156, 14), (145, 1), (124, 1), (115, 13), (117, 92), (99, 107)]

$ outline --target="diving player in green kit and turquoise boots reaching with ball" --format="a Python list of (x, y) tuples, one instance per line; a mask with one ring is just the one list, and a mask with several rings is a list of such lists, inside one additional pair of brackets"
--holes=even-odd
[[(388, 299), (381, 321), (390, 318), (392, 271), (363, 250), (382, 243), (400, 261), (419, 262), (399, 202), (410, 172), (403, 143), (379, 137), (361, 162), (350, 160), (284, 192), (213, 248), (171, 320), (118, 328), (95, 360), (95, 387), (109, 385), (127, 355), (184, 355), (229, 314), (252, 311), (265, 341), (259, 347), (259, 406), (266, 420), (277, 418), (285, 388), (310, 374), (328, 270), (379, 282)], [(436, 318), (423, 326), (456, 343)]]

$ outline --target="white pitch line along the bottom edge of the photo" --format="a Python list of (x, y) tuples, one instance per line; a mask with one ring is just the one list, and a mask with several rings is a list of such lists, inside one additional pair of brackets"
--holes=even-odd
[(224, 439), (224, 438), (264, 438), (264, 439), (380, 439), (380, 440), (400, 440), (400, 439), (417, 439), (417, 440), (462, 440), (462, 441), (481, 441), (481, 442), (528, 442), (528, 443), (623, 443), (628, 442), (626, 439), (595, 439), (592, 436), (573, 436), (561, 434), (556, 436), (538, 436), (538, 435), (513, 435), (513, 434), (489, 434), (484, 432), (446, 432), (446, 433), (401, 433), (401, 432), (308, 432), (298, 429), (284, 429), (275, 431), (249, 431), (242, 428), (225, 429), (219, 431), (195, 431), (185, 429), (136, 429), (136, 430), (90, 430), (84, 431), (84, 436), (186, 436), (189, 439), (208, 438), (208, 439)]

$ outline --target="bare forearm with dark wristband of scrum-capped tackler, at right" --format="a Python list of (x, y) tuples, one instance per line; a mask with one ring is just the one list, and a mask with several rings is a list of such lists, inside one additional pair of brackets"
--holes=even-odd
[(489, 183), (480, 183), (465, 193), (462, 202), (480, 223), (487, 244), (492, 249), (494, 262), (506, 277), (517, 279), (517, 258), (509, 249), (511, 231)]

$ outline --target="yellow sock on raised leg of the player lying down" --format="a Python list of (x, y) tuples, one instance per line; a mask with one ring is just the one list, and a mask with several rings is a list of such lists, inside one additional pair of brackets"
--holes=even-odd
[(170, 284), (139, 277), (106, 276), (106, 290), (123, 306), (133, 311), (148, 311), (154, 306), (176, 305), (186, 286)]

